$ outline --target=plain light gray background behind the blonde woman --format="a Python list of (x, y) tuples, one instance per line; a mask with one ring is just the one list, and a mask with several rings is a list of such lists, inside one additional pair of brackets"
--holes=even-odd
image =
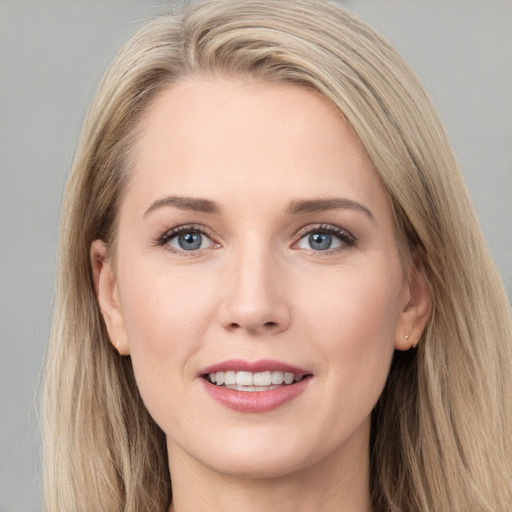
[[(40, 510), (36, 392), (86, 105), (163, 0), (0, 0), (0, 512)], [(512, 1), (347, 0), (423, 79), (512, 296)]]

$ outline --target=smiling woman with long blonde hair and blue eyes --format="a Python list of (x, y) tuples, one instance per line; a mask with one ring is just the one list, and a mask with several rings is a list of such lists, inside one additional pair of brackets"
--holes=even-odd
[(48, 510), (510, 509), (508, 301), (426, 93), (352, 14), (148, 23), (62, 219)]

